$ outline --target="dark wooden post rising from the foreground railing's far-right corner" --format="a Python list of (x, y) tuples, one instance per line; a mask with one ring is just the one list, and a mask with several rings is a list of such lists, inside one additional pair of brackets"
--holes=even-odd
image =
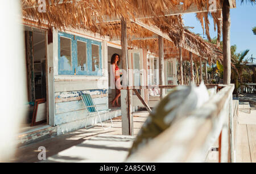
[(222, 6), (222, 36), (223, 36), (223, 83), (230, 84), (231, 78), (231, 53), (230, 53), (230, 5), (229, 1), (223, 1)]

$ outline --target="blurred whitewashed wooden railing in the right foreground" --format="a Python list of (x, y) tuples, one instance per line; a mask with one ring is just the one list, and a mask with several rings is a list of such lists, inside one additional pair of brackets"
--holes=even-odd
[(204, 162), (213, 143), (219, 140), (219, 162), (234, 162), (232, 92), (222, 87), (207, 103), (130, 156), (127, 162)]

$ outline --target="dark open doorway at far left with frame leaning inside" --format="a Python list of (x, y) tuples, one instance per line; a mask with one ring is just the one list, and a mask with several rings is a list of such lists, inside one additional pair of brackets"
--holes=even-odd
[(46, 31), (23, 27), (27, 65), (27, 117), (21, 132), (47, 124), (46, 109)]

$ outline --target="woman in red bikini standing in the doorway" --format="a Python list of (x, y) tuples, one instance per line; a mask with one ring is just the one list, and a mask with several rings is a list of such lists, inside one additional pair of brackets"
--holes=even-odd
[(120, 56), (116, 53), (111, 57), (111, 71), (113, 73), (112, 75), (115, 77), (115, 98), (111, 101), (113, 107), (120, 107), (118, 104), (118, 99), (121, 96), (121, 92), (119, 90), (121, 88), (120, 71), (118, 67), (119, 58)]

